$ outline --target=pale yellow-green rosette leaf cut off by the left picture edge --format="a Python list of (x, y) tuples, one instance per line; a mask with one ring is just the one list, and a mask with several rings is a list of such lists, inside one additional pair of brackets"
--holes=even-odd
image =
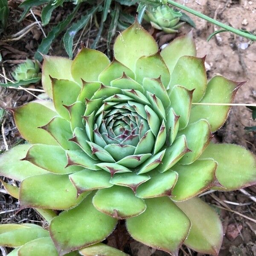
[[(48, 173), (44, 169), (28, 162), (20, 161), (26, 157), (31, 144), (17, 145), (0, 155), (0, 175), (22, 181), (33, 175)], [(10, 161), (11, 159), (11, 161)]]

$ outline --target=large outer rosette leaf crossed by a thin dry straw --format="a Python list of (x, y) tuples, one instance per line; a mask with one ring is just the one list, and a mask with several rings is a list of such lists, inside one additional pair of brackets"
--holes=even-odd
[[(244, 82), (236, 83), (223, 76), (213, 77), (207, 84), (204, 98), (200, 103), (232, 103), (236, 91)], [(227, 119), (230, 106), (195, 105), (191, 109), (189, 122), (206, 119), (211, 125), (212, 132), (218, 130)]]

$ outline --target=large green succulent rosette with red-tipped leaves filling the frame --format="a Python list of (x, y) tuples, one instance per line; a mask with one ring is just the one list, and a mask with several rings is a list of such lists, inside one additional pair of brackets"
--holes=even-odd
[[(181, 244), (217, 255), (222, 226), (197, 197), (256, 183), (256, 159), (210, 143), (242, 83), (215, 76), (192, 35), (159, 52), (138, 23), (119, 35), (114, 60), (82, 48), (71, 61), (44, 56), (53, 101), (13, 110), (27, 144), (0, 158), (20, 180), (20, 206), (64, 210), (49, 231), (59, 255), (104, 240), (119, 219), (131, 236), (172, 255)], [(201, 105), (192, 105), (200, 102)]]

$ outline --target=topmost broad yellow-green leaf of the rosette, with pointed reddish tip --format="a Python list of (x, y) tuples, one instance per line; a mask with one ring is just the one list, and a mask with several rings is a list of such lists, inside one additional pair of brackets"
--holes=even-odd
[(113, 50), (116, 60), (134, 71), (137, 59), (156, 53), (158, 46), (154, 38), (135, 21), (116, 38)]

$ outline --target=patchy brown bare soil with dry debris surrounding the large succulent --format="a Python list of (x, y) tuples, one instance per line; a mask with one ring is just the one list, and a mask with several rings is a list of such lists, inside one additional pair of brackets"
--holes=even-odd
[[(177, 2), (183, 3), (183, 0), (177, 0)], [(19, 1), (9, 1), (12, 8), (10, 10), (9, 26), (3, 38), (15, 34), (35, 21), (32, 15), (28, 15), (22, 22), (16, 22), (21, 12), (18, 8), (18, 3)], [(247, 29), (247, 31), (256, 32), (256, 0), (186, 0), (185, 4), (186, 6), (238, 29)], [(68, 7), (69, 5), (64, 9), (54, 11), (50, 24), (54, 25), (58, 23), (64, 15), (67, 15), (69, 12)], [(37, 7), (33, 9), (33, 12), (40, 20), (41, 8)], [(134, 13), (135, 10), (128, 9), (128, 12)], [(198, 17), (189, 16), (192, 17), (197, 26), (197, 28), (193, 30), (193, 34), (197, 45), (198, 56), (203, 57), (207, 55), (208, 78), (210, 79), (217, 74), (221, 74), (234, 81), (247, 81), (247, 83), (239, 89), (234, 102), (255, 103), (256, 44), (251, 44), (249, 40), (229, 32), (221, 33), (207, 42), (207, 37), (214, 31), (215, 27)], [(16, 21), (14, 22), (13, 20)], [(159, 33), (159, 31), (149, 26), (147, 26), (147, 28), (160, 45), (168, 43), (174, 37), (173, 35)], [(46, 33), (47, 29), (48, 28), (44, 28)], [(183, 29), (181, 29), (180, 35), (188, 32), (190, 29), (190, 26), (185, 25)], [(92, 26), (89, 32), (85, 32), (84, 35), (82, 35), (81, 40), (90, 47), (95, 35), (96, 27)], [(2, 38), (0, 38), (0, 49), (3, 57), (3, 61), (0, 63), (2, 69), (0, 73), (2, 75), (6, 74), (6, 76), (11, 79), (10, 72), (13, 70), (14, 64), (18, 64), (26, 58), (33, 58), (38, 43), (42, 38), (42, 31), (38, 29), (37, 26), (18, 41), (4, 42)], [(99, 43), (99, 49), (102, 51), (106, 51), (105, 38), (105, 34), (103, 33)], [(59, 42), (60, 39), (54, 42), (49, 54), (66, 56)], [(4, 81), (4, 79), (0, 77), (0, 81)], [(35, 85), (31, 87), (35, 88)], [(40, 89), (41, 85), (36, 85), (36, 88)], [(38, 93), (35, 94), (37, 95)], [(35, 99), (35, 97), (26, 91), (0, 87), (0, 108), (15, 108), (33, 99)], [(6, 147), (11, 148), (17, 143), (22, 142), (22, 138), (15, 127), (12, 115), (8, 110), (2, 119), (0, 117), (0, 125), (1, 128), (3, 127), (0, 132), (0, 152), (5, 151)], [(252, 132), (248, 133), (244, 130), (245, 126), (253, 125), (256, 125), (256, 121), (253, 121), (251, 112), (247, 108), (240, 106), (233, 107), (226, 124), (215, 133), (215, 140), (217, 142), (240, 144), (256, 153), (255, 134)], [(6, 141), (4, 141), (4, 138)], [(14, 182), (12, 180), (7, 181), (9, 183)], [(16, 214), (16, 209), (19, 207), (18, 201), (4, 194), (3, 188), (0, 189), (0, 223), (30, 222), (44, 225), (43, 220), (33, 209), (24, 209)], [(247, 188), (246, 191), (256, 196), (256, 186), (251, 186)], [(224, 227), (224, 242), (219, 255), (256, 256), (256, 221), (250, 221), (248, 218), (241, 216), (242, 214), (256, 220), (255, 201), (251, 200), (241, 191), (229, 193), (214, 192), (202, 198), (215, 207), (216, 211), (221, 216)], [(105, 242), (124, 250), (131, 256), (168, 255), (160, 250), (146, 247), (129, 238), (123, 222), (119, 223), (118, 230)], [(181, 255), (203, 256), (203, 254), (195, 253), (185, 246), (180, 250), (180, 256)]]

